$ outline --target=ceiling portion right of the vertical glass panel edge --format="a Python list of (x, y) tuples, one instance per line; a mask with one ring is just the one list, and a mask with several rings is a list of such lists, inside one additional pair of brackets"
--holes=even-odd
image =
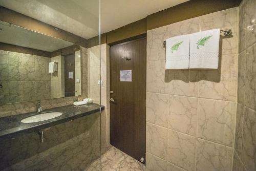
[(101, 0), (101, 32), (109, 32), (188, 0)]

